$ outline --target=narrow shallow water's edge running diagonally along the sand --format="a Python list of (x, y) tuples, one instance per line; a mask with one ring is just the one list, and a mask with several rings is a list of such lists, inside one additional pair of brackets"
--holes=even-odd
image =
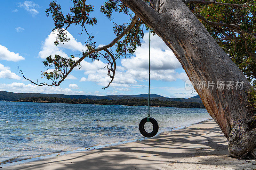
[[(189, 126), (192, 126), (192, 125), (195, 125), (195, 124), (202, 124), (202, 123), (205, 123), (205, 122), (209, 122), (211, 120), (213, 120), (213, 119), (210, 118), (210, 119), (206, 119), (206, 120), (194, 123), (194, 124), (188, 124), (188, 125), (182, 125), (182, 126), (174, 127), (174, 128), (172, 128), (171, 130), (168, 130), (168, 131), (159, 131), (152, 138), (156, 138), (160, 133), (163, 133), (163, 132), (176, 131), (176, 130), (180, 130), (180, 129), (183, 129), (183, 128), (186, 128), (186, 127), (189, 127)], [(127, 144), (127, 143), (130, 143), (130, 142), (143, 141), (143, 140), (147, 140), (147, 139), (150, 139), (150, 138), (142, 137), (142, 138), (138, 138), (138, 139), (124, 140), (124, 141), (109, 143), (109, 144), (104, 144), (104, 145), (94, 145), (94, 146), (90, 146), (90, 147), (86, 147), (86, 148), (79, 148), (79, 149), (75, 149), (75, 150), (71, 150), (71, 151), (60, 151), (60, 152), (45, 153), (45, 154), (37, 155), (35, 157), (30, 157), (30, 158), (27, 158), (27, 159), (25, 158), (25, 159), (10, 162), (13, 159), (19, 157), (19, 156), (17, 156), (15, 158), (3, 161), (0, 164), (0, 167), (4, 168), (4, 167), (7, 167), (7, 166), (8, 167), (9, 166), (15, 166), (15, 165), (18, 165), (18, 164), (33, 162), (33, 161), (36, 161), (36, 160), (49, 159), (49, 158), (52, 158), (52, 157), (59, 156), (60, 154), (64, 155), (64, 154), (72, 154), (72, 153), (83, 152), (83, 151), (97, 150), (97, 149), (105, 148), (105, 147), (109, 147), (109, 146)]]

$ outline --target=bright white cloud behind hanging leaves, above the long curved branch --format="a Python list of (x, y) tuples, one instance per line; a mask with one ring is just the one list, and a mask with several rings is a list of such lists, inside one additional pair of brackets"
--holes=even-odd
[(77, 40), (68, 31), (65, 32), (67, 32), (67, 37), (70, 39), (68, 42), (64, 42), (64, 44), (60, 43), (58, 46), (55, 46), (54, 41), (56, 40), (57, 32), (51, 32), (44, 40), (38, 56), (42, 59), (45, 59), (49, 55), (55, 56), (55, 54), (60, 55), (61, 57), (68, 57), (68, 55), (63, 51), (64, 49), (79, 52), (86, 51), (85, 45), (81, 42), (77, 42)]

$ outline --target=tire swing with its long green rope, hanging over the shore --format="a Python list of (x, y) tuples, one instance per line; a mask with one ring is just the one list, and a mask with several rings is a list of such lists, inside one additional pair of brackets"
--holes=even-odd
[[(149, 28), (149, 55), (148, 55), (148, 117), (143, 118), (139, 124), (140, 133), (147, 138), (151, 138), (155, 136), (156, 133), (158, 132), (158, 123), (156, 119), (154, 119), (153, 117), (150, 117), (150, 114), (149, 114), (149, 89), (150, 89), (150, 28)], [(145, 131), (145, 128), (144, 128), (144, 125), (147, 122), (151, 122), (153, 124), (153, 131), (151, 131), (150, 133)]]

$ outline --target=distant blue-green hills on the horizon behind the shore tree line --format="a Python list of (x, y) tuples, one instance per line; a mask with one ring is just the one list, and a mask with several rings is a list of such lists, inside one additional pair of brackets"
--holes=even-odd
[[(85, 96), (85, 95), (62, 95), (62, 94), (43, 94), (43, 93), (12, 93), (7, 91), (0, 91), (0, 101), (17, 101), (25, 97), (58, 97), (68, 99), (108, 99), (108, 100), (120, 100), (120, 99), (147, 99), (148, 94), (140, 95), (108, 95), (108, 96)], [(195, 96), (194, 96), (195, 97)], [(169, 98), (156, 94), (150, 94), (150, 99), (158, 99), (162, 101), (177, 101), (177, 102), (197, 102), (202, 103), (200, 97), (198, 98)]]

